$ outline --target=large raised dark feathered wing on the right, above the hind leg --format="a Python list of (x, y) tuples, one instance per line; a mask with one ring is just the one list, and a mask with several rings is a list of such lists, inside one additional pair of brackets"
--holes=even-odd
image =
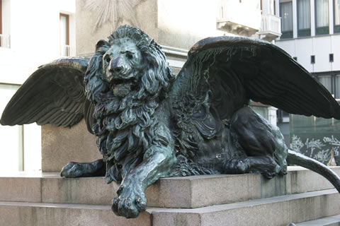
[(340, 119), (329, 91), (283, 49), (246, 37), (208, 37), (196, 43), (174, 82), (176, 98), (191, 93), (220, 119), (229, 119), (249, 99), (291, 114)]

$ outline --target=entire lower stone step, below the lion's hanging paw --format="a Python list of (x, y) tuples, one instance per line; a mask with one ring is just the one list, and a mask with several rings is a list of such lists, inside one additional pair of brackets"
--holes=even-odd
[(339, 215), (335, 189), (201, 208), (147, 208), (136, 219), (115, 216), (108, 205), (0, 202), (3, 225), (288, 225)]

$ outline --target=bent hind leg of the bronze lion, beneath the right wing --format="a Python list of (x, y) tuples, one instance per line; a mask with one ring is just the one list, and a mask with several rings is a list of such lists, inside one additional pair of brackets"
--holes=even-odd
[(225, 161), (225, 173), (261, 172), (268, 178), (287, 173), (288, 148), (280, 130), (250, 107), (235, 112), (230, 133), (241, 154)]

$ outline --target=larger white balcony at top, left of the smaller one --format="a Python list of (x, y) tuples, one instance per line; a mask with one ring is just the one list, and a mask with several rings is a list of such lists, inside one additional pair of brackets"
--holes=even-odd
[(248, 2), (222, 1), (217, 29), (243, 36), (251, 36), (258, 32), (261, 28), (261, 11), (254, 4), (256, 1)]

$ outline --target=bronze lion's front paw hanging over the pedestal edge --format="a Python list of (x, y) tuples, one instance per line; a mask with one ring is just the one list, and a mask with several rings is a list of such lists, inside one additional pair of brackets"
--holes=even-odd
[(147, 208), (147, 198), (139, 184), (123, 183), (118, 191), (118, 198), (113, 198), (111, 209), (115, 215), (125, 218), (137, 218)]

